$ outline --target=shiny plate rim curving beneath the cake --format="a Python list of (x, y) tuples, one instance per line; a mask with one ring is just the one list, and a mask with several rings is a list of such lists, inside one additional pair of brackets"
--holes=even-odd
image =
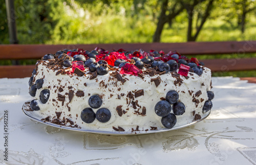
[(47, 121), (41, 121), (41, 117), (37, 116), (34, 111), (31, 111), (30, 102), (25, 102), (23, 104), (22, 110), (24, 112), (24, 114), (29, 117), (30, 119), (46, 124), (46, 125), (50, 125), (53, 127), (57, 127), (57, 128), (61, 128), (61, 129), (67, 129), (67, 130), (73, 130), (73, 131), (80, 131), (80, 132), (89, 132), (89, 133), (99, 133), (99, 134), (111, 134), (111, 135), (139, 135), (139, 134), (148, 134), (148, 133), (157, 133), (157, 132), (165, 132), (165, 131), (170, 131), (170, 130), (176, 130), (176, 129), (180, 129), (180, 128), (184, 128), (193, 124), (196, 124), (204, 119), (206, 119), (209, 115), (210, 115), (210, 111), (208, 111), (207, 113), (204, 113), (202, 115), (202, 118), (200, 120), (197, 121), (193, 121), (191, 123), (185, 124), (185, 125), (180, 125), (180, 126), (174, 126), (173, 128), (160, 128), (157, 130), (148, 130), (148, 131), (99, 131), (99, 130), (90, 130), (90, 129), (81, 129), (81, 128), (74, 128), (74, 127), (69, 127), (69, 126), (63, 126), (63, 125), (58, 125), (58, 124), (53, 124), (51, 122), (47, 122)]

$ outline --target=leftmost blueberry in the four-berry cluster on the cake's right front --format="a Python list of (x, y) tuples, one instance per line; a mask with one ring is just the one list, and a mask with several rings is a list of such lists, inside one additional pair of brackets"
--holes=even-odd
[(167, 116), (170, 111), (172, 111), (172, 106), (170, 106), (170, 103), (165, 100), (158, 101), (155, 105), (155, 113), (158, 116), (164, 117)]

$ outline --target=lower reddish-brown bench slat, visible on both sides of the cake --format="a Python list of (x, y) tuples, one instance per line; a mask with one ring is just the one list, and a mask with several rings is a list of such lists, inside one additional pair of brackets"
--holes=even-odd
[[(256, 70), (256, 58), (250, 59), (214, 59), (202, 60), (212, 72)], [(35, 65), (0, 66), (0, 78), (23, 78), (30, 77)]]

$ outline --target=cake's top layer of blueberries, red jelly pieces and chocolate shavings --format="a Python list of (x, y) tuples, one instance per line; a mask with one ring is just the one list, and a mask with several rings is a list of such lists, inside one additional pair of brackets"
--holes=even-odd
[[(196, 58), (188, 59), (177, 51), (165, 53), (162, 50), (146, 52), (142, 49), (135, 51), (118, 49), (110, 52), (98, 47), (92, 51), (79, 48), (59, 50), (55, 54), (46, 54), (36, 66), (41, 63), (47, 65), (49, 69), (56, 70), (56, 75), (91, 74), (92, 79), (98, 75), (108, 74), (109, 71), (119, 79), (121, 79), (120, 74), (130, 74), (143, 79), (144, 75), (154, 76), (168, 72), (172, 72), (173, 77), (182, 75), (189, 78), (189, 72), (200, 76), (204, 70), (204, 64)], [(88, 68), (89, 72), (86, 73), (85, 68)]]

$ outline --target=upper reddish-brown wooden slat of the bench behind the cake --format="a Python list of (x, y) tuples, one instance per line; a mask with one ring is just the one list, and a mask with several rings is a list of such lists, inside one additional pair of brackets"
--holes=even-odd
[(256, 52), (256, 41), (225, 41), (225, 42), (185, 42), (185, 43), (118, 43), (118, 44), (74, 44), (74, 45), (0, 45), (2, 59), (40, 59), (47, 53), (55, 53), (63, 49), (83, 48), (93, 50), (95, 47), (106, 50), (136, 50), (142, 48), (145, 51), (177, 50), (184, 55), (194, 54), (226, 54), (226, 53), (250, 53)]

